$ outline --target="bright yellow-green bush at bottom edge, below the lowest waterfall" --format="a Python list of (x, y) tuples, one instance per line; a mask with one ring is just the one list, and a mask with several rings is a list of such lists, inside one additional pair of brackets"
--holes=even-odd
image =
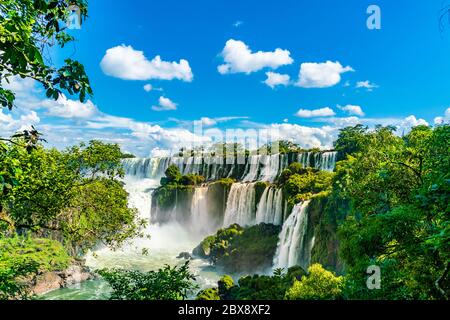
[(308, 275), (295, 280), (294, 285), (286, 292), (288, 300), (335, 300), (342, 295), (344, 279), (336, 277), (320, 264), (308, 268)]

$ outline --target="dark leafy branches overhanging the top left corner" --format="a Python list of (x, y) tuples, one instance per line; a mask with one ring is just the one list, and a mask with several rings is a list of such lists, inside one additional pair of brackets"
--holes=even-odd
[(0, 104), (12, 109), (15, 94), (4, 88), (11, 77), (31, 78), (41, 83), (49, 98), (58, 99), (63, 91), (84, 102), (92, 88), (84, 67), (66, 59), (56, 68), (44, 52), (55, 45), (64, 47), (74, 40), (61, 21), (76, 5), (87, 17), (85, 0), (4, 0), (0, 3)]

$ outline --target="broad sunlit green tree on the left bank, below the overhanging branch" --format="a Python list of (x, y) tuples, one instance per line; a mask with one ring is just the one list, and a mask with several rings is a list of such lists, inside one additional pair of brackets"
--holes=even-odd
[[(0, 199), (4, 224), (38, 235), (53, 234), (76, 250), (97, 241), (115, 246), (136, 235), (140, 221), (128, 208), (118, 145), (91, 141), (65, 151), (14, 140), (1, 160), (16, 164), (17, 183)], [(79, 246), (82, 245), (83, 248)]]

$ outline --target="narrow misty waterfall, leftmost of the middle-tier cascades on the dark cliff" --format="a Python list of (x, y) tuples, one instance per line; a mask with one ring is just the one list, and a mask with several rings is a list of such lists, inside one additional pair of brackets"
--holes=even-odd
[(192, 228), (200, 234), (208, 234), (211, 231), (207, 195), (208, 187), (195, 188), (191, 204)]

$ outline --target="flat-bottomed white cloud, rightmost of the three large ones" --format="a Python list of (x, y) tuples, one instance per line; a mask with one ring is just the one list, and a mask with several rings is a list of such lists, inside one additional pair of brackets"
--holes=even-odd
[(305, 62), (300, 66), (297, 86), (303, 88), (327, 88), (341, 81), (341, 74), (354, 71), (352, 67), (343, 67), (338, 61), (324, 63)]

